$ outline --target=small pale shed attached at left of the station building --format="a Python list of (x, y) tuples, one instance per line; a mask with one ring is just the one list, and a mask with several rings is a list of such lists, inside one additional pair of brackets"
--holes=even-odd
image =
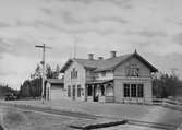
[(57, 101), (65, 97), (63, 79), (47, 79), (46, 99)]

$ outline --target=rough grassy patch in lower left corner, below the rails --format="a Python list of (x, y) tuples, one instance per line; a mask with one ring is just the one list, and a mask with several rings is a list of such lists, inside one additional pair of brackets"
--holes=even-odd
[(3, 111), (3, 127), (8, 130), (72, 130), (68, 126), (74, 120), (78, 120), (10, 107), (5, 107)]

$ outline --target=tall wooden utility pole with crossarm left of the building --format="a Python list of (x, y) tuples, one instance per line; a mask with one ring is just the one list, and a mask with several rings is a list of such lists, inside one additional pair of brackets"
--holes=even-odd
[(44, 95), (45, 95), (45, 54), (46, 49), (52, 49), (51, 47), (47, 47), (45, 44), (43, 45), (36, 45), (35, 47), (43, 49), (43, 61), (40, 62), (43, 64), (43, 71), (41, 71), (41, 102), (44, 104)]

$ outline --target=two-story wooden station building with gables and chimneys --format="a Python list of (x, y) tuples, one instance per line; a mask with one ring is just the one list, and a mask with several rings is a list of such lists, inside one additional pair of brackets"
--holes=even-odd
[(70, 99), (88, 102), (143, 102), (153, 97), (151, 73), (157, 69), (136, 51), (94, 59), (69, 59), (62, 67)]

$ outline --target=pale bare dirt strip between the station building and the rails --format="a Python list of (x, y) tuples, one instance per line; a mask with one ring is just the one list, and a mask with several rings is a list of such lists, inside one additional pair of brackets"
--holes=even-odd
[(39, 101), (16, 101), (12, 104), (23, 104), (38, 107), (49, 107), (53, 109), (65, 109), (81, 111), (90, 115), (133, 119), (139, 121), (156, 122), (162, 125), (180, 126), (182, 123), (182, 111), (165, 108), (162, 106), (131, 105), (116, 103), (88, 103), (77, 101), (51, 101), (41, 104)]

